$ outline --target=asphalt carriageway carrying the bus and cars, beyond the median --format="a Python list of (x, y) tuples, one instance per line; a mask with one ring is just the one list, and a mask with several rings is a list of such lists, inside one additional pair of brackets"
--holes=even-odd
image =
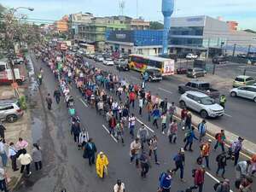
[[(84, 60), (89, 61), (90, 64), (96, 65), (96, 67), (102, 67), (112, 73), (119, 73), (116, 70), (116, 67), (104, 66), (102, 62), (96, 62), (87, 58), (84, 58)], [(226, 77), (233, 78), (235, 70), (231, 70), (229, 68), (230, 65), (218, 66), (217, 73), (227, 72)], [(233, 75), (231, 76), (230, 73)], [(120, 77), (137, 84), (141, 84), (142, 82), (140, 79), (140, 73), (135, 71), (121, 72)], [(203, 80), (204, 78), (201, 79)], [(185, 78), (177, 79), (175, 76), (171, 76), (161, 82), (147, 83), (146, 90), (150, 90), (152, 95), (159, 94), (161, 98), (167, 98), (169, 102), (175, 102), (178, 104), (180, 94), (177, 92), (177, 85), (187, 82), (186, 80), (187, 79)], [(212, 86), (214, 87), (214, 84), (212, 84)], [(229, 96), (230, 89), (231, 84), (230, 88), (220, 90), (221, 93), (224, 93), (227, 96), (224, 116), (217, 119), (207, 120), (219, 127), (222, 127), (224, 130), (233, 132), (234, 134), (255, 143), (256, 141), (253, 133), (255, 131), (254, 125), (256, 125), (256, 104), (247, 99)], [(195, 113), (195, 115), (197, 115), (197, 113)]]

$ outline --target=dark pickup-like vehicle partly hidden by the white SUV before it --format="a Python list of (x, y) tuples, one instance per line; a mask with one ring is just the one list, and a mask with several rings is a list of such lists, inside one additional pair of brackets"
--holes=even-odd
[(189, 81), (186, 84), (178, 85), (178, 92), (183, 94), (188, 90), (195, 90), (201, 93), (211, 96), (212, 98), (218, 98), (219, 91), (211, 88), (211, 84), (203, 81)]

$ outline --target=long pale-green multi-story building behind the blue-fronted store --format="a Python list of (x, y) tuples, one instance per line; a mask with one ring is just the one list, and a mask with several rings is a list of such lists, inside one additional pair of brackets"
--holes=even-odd
[(95, 44), (96, 49), (105, 49), (108, 31), (147, 29), (149, 22), (134, 20), (127, 16), (94, 17), (90, 23), (79, 25), (79, 40)]

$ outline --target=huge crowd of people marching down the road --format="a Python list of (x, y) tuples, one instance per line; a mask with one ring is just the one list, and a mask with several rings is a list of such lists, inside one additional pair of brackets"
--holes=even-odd
[[(83, 58), (76, 57), (75, 55), (66, 54), (63, 61), (64, 55), (54, 48), (38, 46), (34, 49), (34, 52), (40, 55), (38, 59), (41, 58), (50, 67), (55, 75), (55, 79), (59, 82), (52, 96), (57, 104), (60, 103), (61, 96), (63, 96), (71, 117), (71, 134), (73, 135), (74, 142), (77, 143), (79, 149), (83, 149), (83, 157), (89, 160), (89, 165), (96, 164), (98, 177), (103, 178), (108, 175), (108, 156), (103, 152), (99, 152), (96, 155), (96, 144), (89, 137), (88, 131), (81, 128), (80, 119), (74, 108), (74, 99), (69, 89), (69, 86), (73, 86), (73, 84), (80, 91), (84, 101), (87, 102), (90, 108), (94, 108), (96, 113), (106, 119), (109, 134), (123, 146), (127, 143), (124, 139), (125, 131), (129, 131), (133, 139), (131, 143), (128, 143), (130, 145), (131, 164), (135, 161), (135, 165), (137, 168), (140, 168), (141, 177), (143, 178), (147, 177), (147, 173), (152, 166), (151, 158), (154, 159), (156, 165), (160, 165), (157, 153), (158, 137), (156, 135), (150, 136), (147, 125), (143, 123), (140, 127), (136, 127), (137, 118), (134, 110), (138, 110), (139, 115), (146, 111), (148, 122), (152, 122), (156, 129), (160, 129), (161, 133), (168, 137), (169, 143), (177, 143), (177, 140), (180, 139), (177, 137), (177, 132), (184, 132), (184, 137), (182, 138), (184, 145), (180, 146), (177, 154), (173, 157), (176, 167), (160, 173), (158, 191), (170, 191), (172, 178), (178, 170), (181, 181), (185, 182), (183, 178), (185, 152), (188, 150), (192, 152), (193, 143), (195, 140), (198, 140), (200, 142), (200, 156), (196, 162), (200, 166), (191, 171), (195, 184), (186, 189), (186, 192), (193, 191), (194, 189), (198, 189), (199, 192), (203, 191), (206, 170), (211, 170), (209, 159), (212, 150), (217, 150), (218, 147), (221, 148), (222, 152), (216, 157), (218, 165), (216, 176), (222, 177), (223, 181), (216, 183), (214, 189), (218, 192), (230, 191), (230, 180), (224, 174), (228, 160), (234, 160), (236, 188), (239, 192), (253, 192), (252, 177), (256, 172), (256, 155), (253, 155), (251, 160), (239, 161), (243, 138), (238, 137), (237, 141), (232, 143), (230, 148), (226, 149), (224, 130), (215, 135), (215, 141), (206, 139), (207, 121), (203, 119), (195, 127), (192, 125), (192, 114), (187, 108), (182, 109), (180, 113), (181, 121), (178, 122), (175, 118), (175, 115), (177, 115), (175, 103), (172, 102), (169, 105), (167, 98), (161, 100), (159, 95), (152, 96), (150, 91), (145, 90), (145, 82), (142, 84), (128, 83), (125, 79), (120, 79), (117, 74), (108, 73), (99, 67), (90, 66), (88, 62), (84, 62)], [(44, 72), (40, 70), (38, 73), (39, 84), (42, 84), (43, 79)], [(49, 110), (51, 110), (53, 103), (52, 96), (49, 93), (46, 97)], [(196, 137), (195, 130), (198, 131), (199, 137)], [(215, 142), (213, 148), (212, 142)], [(205, 165), (203, 163), (204, 160), (206, 162)], [(38, 166), (41, 168), (41, 163), (38, 163)], [(218, 175), (219, 172), (221, 173), (220, 176)], [(125, 191), (125, 183), (118, 179), (117, 183), (113, 186), (113, 191)]]

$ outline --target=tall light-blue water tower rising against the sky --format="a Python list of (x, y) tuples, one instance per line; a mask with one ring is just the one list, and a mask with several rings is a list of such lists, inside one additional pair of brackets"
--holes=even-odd
[(164, 33), (162, 55), (168, 54), (168, 34), (171, 28), (171, 15), (174, 9), (174, 0), (162, 0), (162, 14), (164, 15)]

